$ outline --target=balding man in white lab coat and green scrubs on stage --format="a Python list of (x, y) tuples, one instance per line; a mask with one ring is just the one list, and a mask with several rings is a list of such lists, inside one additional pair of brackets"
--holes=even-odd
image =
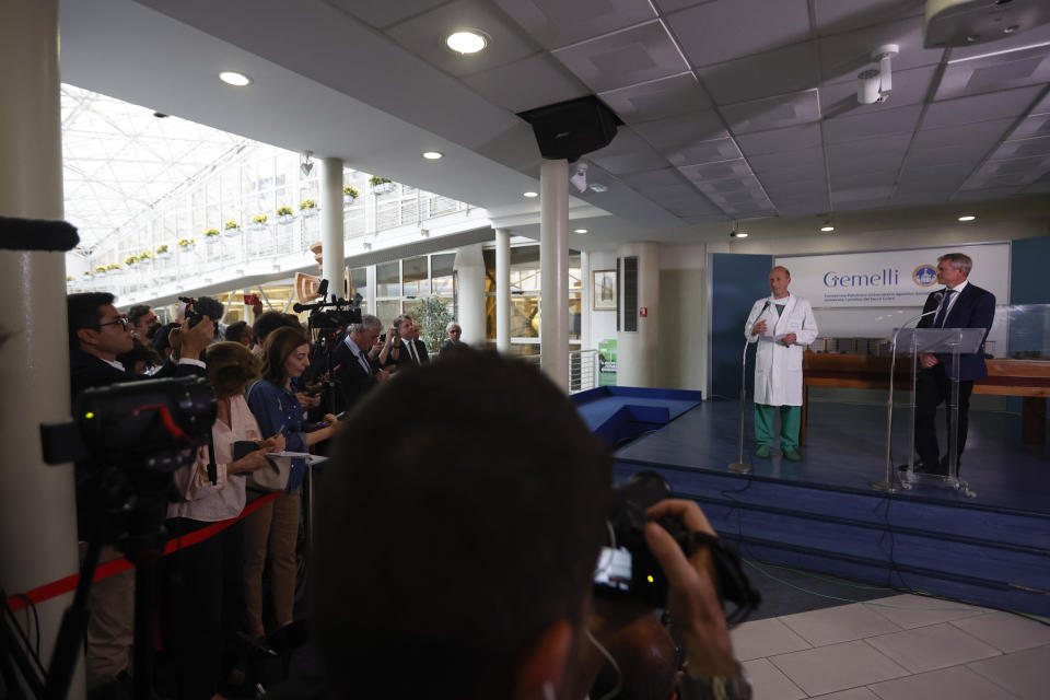
[(744, 325), (748, 341), (758, 342), (755, 360), (755, 454), (768, 457), (777, 436), (773, 413), (780, 408), (780, 451), (797, 462), (802, 425), (802, 349), (817, 338), (813, 307), (788, 291), (791, 272), (769, 271), (772, 294), (755, 302)]

